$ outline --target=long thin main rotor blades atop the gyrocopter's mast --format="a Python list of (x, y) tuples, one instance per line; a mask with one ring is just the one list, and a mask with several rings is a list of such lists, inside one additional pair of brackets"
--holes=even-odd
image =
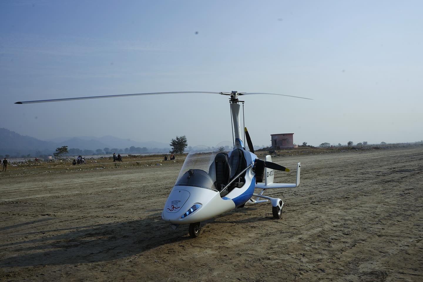
[[(70, 100), (99, 99), (99, 98), (112, 98), (112, 97), (125, 97), (125, 96), (160, 95), (160, 94), (181, 94), (181, 93), (207, 93), (207, 94), (211, 93), (211, 94), (232, 95), (231, 92), (176, 91), (176, 92), (152, 92), (152, 93), (135, 93), (135, 94), (120, 94), (120, 95), (75, 97), (75, 98), (63, 98), (63, 99), (19, 101), (19, 102), (15, 102), (15, 104), (32, 104), (32, 103), (45, 103), (45, 102), (57, 102), (57, 101), (70, 101)], [(288, 96), (288, 97), (294, 97), (294, 98), (313, 100), (310, 98), (291, 96), (291, 95), (285, 95), (285, 94), (275, 94), (275, 93), (244, 93), (244, 92), (236, 92), (236, 93), (237, 95), (269, 94), (269, 95)]]

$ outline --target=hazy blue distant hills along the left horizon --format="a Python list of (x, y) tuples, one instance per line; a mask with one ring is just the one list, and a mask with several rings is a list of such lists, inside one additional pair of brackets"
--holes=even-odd
[(9, 129), (0, 128), (0, 155), (21, 156), (30, 153), (35, 156), (40, 153), (52, 154), (57, 147), (68, 146), (81, 150), (96, 150), (103, 148), (124, 149), (131, 146), (146, 147), (148, 151), (155, 151), (153, 148), (168, 149), (169, 145), (162, 142), (146, 141), (137, 142), (130, 139), (123, 139), (114, 136), (103, 137), (57, 137), (50, 140), (39, 140), (34, 137), (24, 136)]

